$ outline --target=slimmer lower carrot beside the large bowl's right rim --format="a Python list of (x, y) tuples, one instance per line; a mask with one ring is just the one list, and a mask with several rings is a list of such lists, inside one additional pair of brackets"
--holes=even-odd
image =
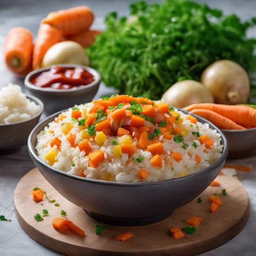
[(229, 130), (244, 130), (245, 128), (241, 125), (236, 124), (235, 122), (231, 121), (230, 119), (219, 115), (208, 109), (193, 109), (190, 111), (193, 114), (198, 116), (202, 116), (208, 121), (212, 122), (216, 126), (221, 129), (229, 129)]

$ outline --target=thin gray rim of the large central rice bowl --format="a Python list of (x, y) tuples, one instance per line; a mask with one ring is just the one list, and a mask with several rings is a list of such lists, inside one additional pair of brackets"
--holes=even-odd
[[(179, 111), (182, 111), (183, 113), (189, 113), (189, 111), (185, 111), (185, 110), (182, 110), (180, 108), (177, 108)], [(166, 184), (166, 183), (173, 183), (173, 182), (178, 182), (179, 180), (186, 180), (186, 179), (189, 179), (189, 178), (192, 178), (192, 177), (196, 177), (197, 175), (201, 175), (203, 172), (207, 173), (207, 172), (211, 172), (212, 169), (215, 169), (217, 168), (219, 165), (221, 165), (224, 160), (227, 159), (227, 155), (228, 155), (228, 152), (229, 152), (229, 145), (227, 143), (227, 139), (226, 137), (224, 136), (224, 134), (222, 133), (222, 131), (216, 127), (214, 124), (212, 124), (211, 122), (209, 122), (207, 119), (204, 119), (202, 118), (201, 116), (198, 116), (198, 115), (195, 115), (195, 114), (191, 114), (192, 116), (195, 116), (197, 119), (201, 119), (204, 123), (208, 123), (210, 125), (212, 125), (212, 127), (214, 129), (217, 130), (217, 132), (219, 134), (221, 134), (221, 139), (223, 140), (223, 149), (222, 149), (222, 153), (221, 153), (221, 157), (219, 157), (214, 163), (210, 164), (209, 166), (207, 166), (206, 168), (198, 171), (198, 172), (195, 172), (195, 173), (192, 173), (190, 175), (186, 175), (184, 177), (177, 177), (177, 178), (173, 178), (173, 179), (168, 179), (168, 180), (160, 180), (160, 181), (147, 181), (147, 182), (136, 182), (136, 183), (125, 183), (125, 182), (118, 182), (118, 181), (105, 181), (105, 180), (94, 180), (94, 179), (87, 179), (87, 178), (84, 178), (84, 177), (80, 177), (80, 176), (77, 176), (77, 175), (73, 175), (73, 174), (69, 174), (67, 172), (64, 172), (64, 171), (60, 171), (58, 169), (55, 169), (53, 168), (52, 166), (50, 166), (48, 163), (44, 162), (43, 160), (41, 160), (40, 157), (38, 157), (37, 155), (37, 152), (35, 150), (35, 147), (32, 145), (32, 136), (33, 134), (36, 132), (36, 130), (38, 129), (38, 127), (46, 122), (47, 125), (49, 123), (49, 119), (52, 119), (52, 121), (54, 120), (54, 118), (56, 116), (58, 116), (60, 113), (62, 112), (65, 112), (67, 111), (68, 109), (66, 110), (63, 110), (63, 111), (59, 111), (57, 113), (54, 113), (50, 116), (48, 116), (47, 118), (45, 118), (44, 120), (42, 120), (41, 122), (39, 122), (35, 128), (30, 132), (29, 134), (29, 138), (28, 138), (28, 150), (29, 150), (29, 154), (32, 155), (34, 157), (34, 159), (39, 162), (41, 165), (43, 165), (44, 167), (46, 167), (47, 169), (51, 170), (52, 172), (55, 172), (59, 175), (63, 175), (63, 176), (66, 176), (68, 178), (71, 178), (71, 179), (74, 179), (74, 180), (79, 180), (79, 181), (85, 181), (85, 182), (90, 182), (90, 183), (95, 183), (95, 184), (101, 184), (101, 185), (110, 185), (110, 186), (131, 186), (131, 187), (134, 187), (134, 186), (155, 186), (155, 185), (161, 185), (161, 184)], [(54, 118), (53, 118), (54, 117)], [(52, 122), (50, 121), (50, 122)], [(45, 125), (44, 125), (45, 126)]]

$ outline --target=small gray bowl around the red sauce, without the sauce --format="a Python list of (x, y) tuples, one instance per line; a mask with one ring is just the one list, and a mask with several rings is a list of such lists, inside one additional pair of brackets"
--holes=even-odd
[(99, 89), (101, 81), (101, 76), (98, 71), (91, 67), (77, 64), (58, 64), (54, 66), (67, 68), (83, 67), (85, 70), (93, 74), (95, 81), (86, 86), (73, 89), (41, 88), (32, 84), (29, 79), (38, 76), (53, 66), (43, 67), (30, 72), (25, 78), (25, 87), (29, 91), (29, 94), (38, 97), (42, 102), (44, 102), (45, 111), (47, 113), (52, 114), (57, 111), (61, 111), (62, 109), (73, 107), (75, 104), (79, 105), (85, 102), (90, 102), (93, 99)]

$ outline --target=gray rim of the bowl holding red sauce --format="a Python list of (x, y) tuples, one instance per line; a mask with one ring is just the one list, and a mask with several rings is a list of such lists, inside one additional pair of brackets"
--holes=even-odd
[[(95, 80), (93, 82), (91, 82), (90, 84), (81, 86), (79, 88), (71, 88), (71, 89), (54, 89), (54, 88), (51, 88), (51, 87), (42, 88), (42, 87), (36, 86), (35, 84), (32, 84), (29, 81), (31, 76), (35, 76), (37, 74), (48, 71), (52, 67), (67, 67), (67, 68), (82, 67), (85, 70), (87, 70), (89, 73), (91, 73), (94, 76)], [(85, 65), (79, 65), (79, 64), (58, 64), (58, 65), (51, 65), (51, 66), (48, 66), (48, 67), (41, 67), (37, 70), (33, 70), (33, 71), (29, 72), (25, 77), (24, 84), (25, 84), (25, 87), (28, 90), (35, 90), (37, 92), (42, 92), (42, 93), (49, 93), (50, 92), (50, 93), (53, 93), (53, 94), (57, 94), (57, 93), (71, 93), (71, 92), (75, 92), (75, 91), (77, 92), (77, 91), (87, 90), (89, 88), (96, 87), (100, 83), (100, 81), (101, 81), (101, 75), (99, 74), (99, 72), (96, 69), (94, 69), (92, 67), (88, 67), (88, 66), (85, 66)]]

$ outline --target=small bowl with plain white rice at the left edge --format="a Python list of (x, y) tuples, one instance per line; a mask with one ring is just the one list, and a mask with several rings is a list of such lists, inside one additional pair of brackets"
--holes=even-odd
[(43, 111), (43, 102), (22, 93), (19, 85), (10, 83), (1, 87), (0, 153), (15, 152), (25, 145)]

